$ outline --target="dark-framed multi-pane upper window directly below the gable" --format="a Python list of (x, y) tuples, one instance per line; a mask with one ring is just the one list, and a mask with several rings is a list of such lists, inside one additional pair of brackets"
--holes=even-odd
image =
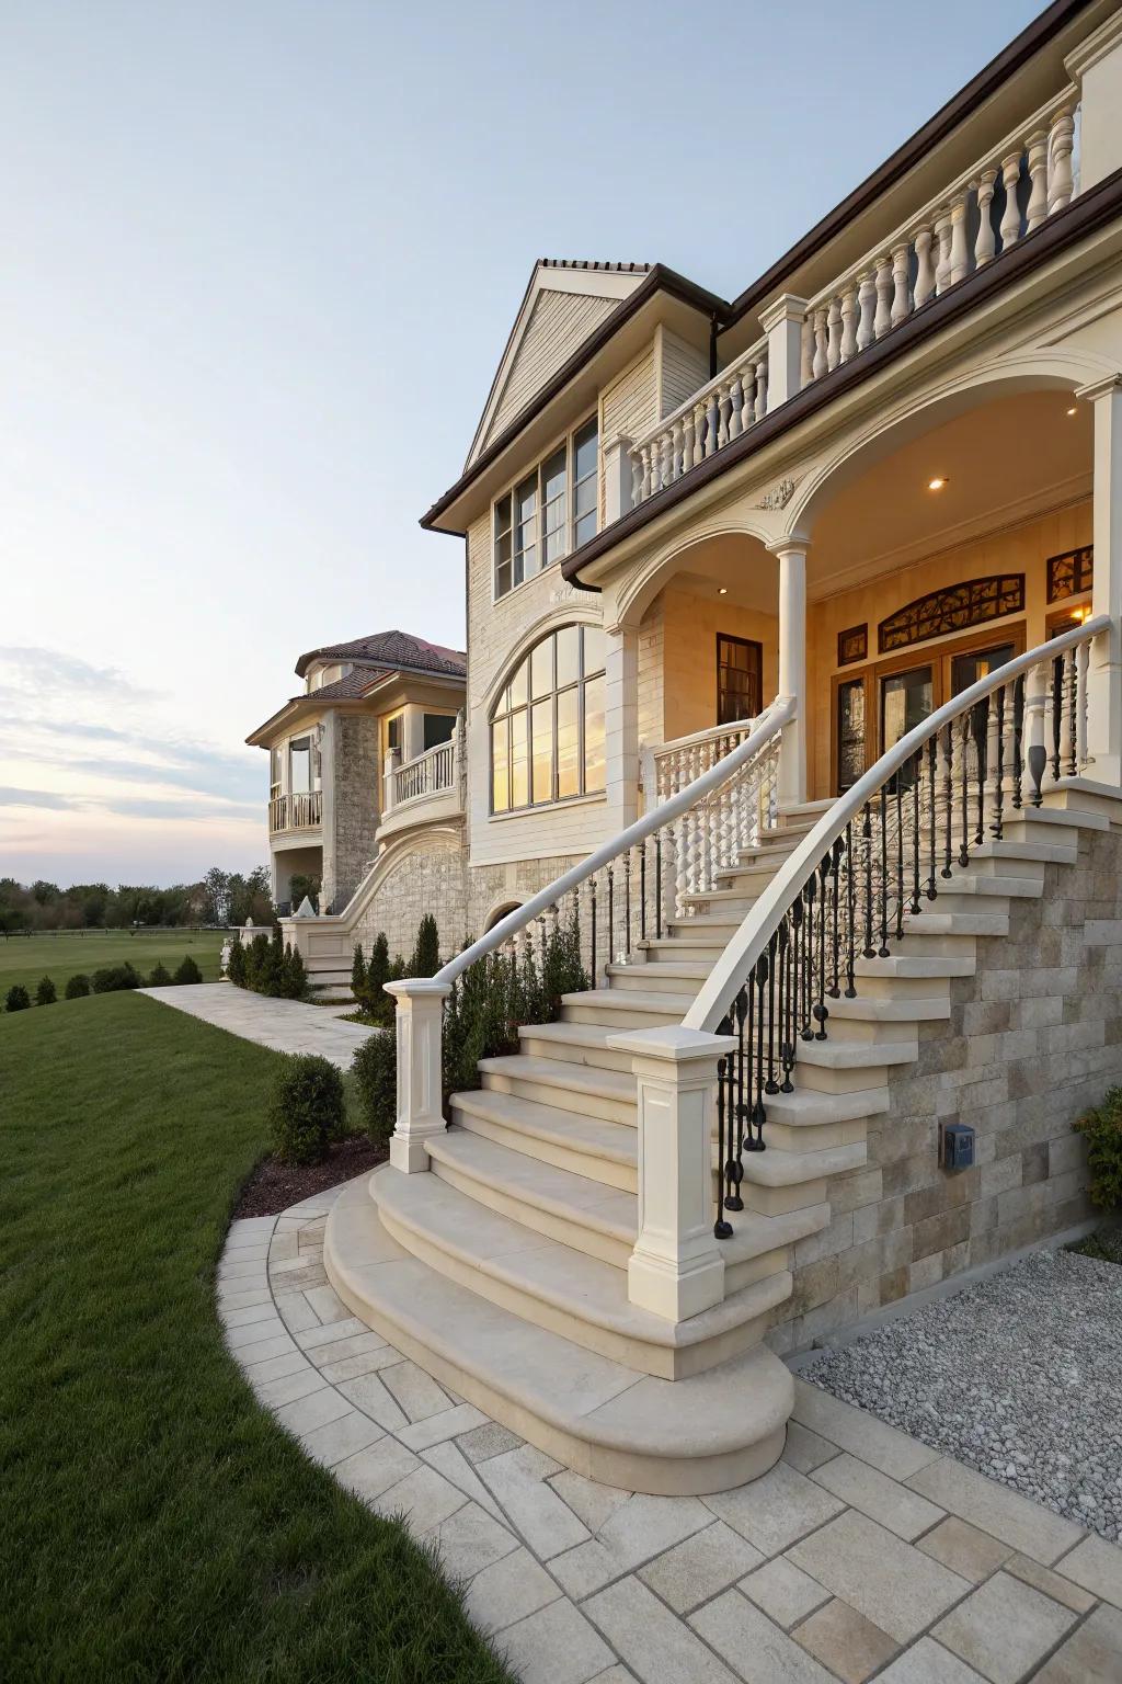
[(495, 596), (595, 537), (597, 421), (592, 416), (495, 504)]

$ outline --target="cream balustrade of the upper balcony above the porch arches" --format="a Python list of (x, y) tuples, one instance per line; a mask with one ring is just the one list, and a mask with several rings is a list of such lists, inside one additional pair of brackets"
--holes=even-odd
[[(796, 391), (860, 357), (967, 274), (1001, 263), (1063, 210), (1078, 194), (1078, 89), (1068, 84), (814, 298), (787, 298), (787, 312), (764, 338), (634, 440), (631, 507), (725, 450)], [(794, 389), (782, 389), (787, 382), (777, 387), (770, 365), (792, 327), (801, 333), (801, 365), (789, 382)]]

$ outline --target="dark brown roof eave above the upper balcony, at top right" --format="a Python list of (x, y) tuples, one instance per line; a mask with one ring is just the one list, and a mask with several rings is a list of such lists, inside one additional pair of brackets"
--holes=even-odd
[(792, 269), (797, 269), (801, 263), (812, 258), (816, 251), (826, 246), (834, 234), (846, 226), (846, 222), (851, 222), (853, 217), (868, 209), (868, 205), (888, 187), (898, 182), (902, 175), (907, 175), (907, 172), (918, 163), (920, 158), (932, 150), (932, 147), (937, 147), (939, 141), (945, 140), (947, 135), (950, 135), (959, 123), (976, 111), (996, 88), (1001, 88), (1014, 71), (1019, 71), (1019, 67), (1031, 59), (1035, 52), (1040, 52), (1040, 49), (1045, 47), (1053, 35), (1058, 35), (1060, 30), (1070, 24), (1073, 17), (1078, 17), (1078, 13), (1088, 5), (1090, 0), (1055, 0), (1055, 5), (1050, 5), (1040, 13), (1040, 17), (1033, 19), (1028, 29), (1023, 29), (1021, 34), (998, 54), (996, 59), (991, 59), (989, 64), (981, 69), (977, 76), (966, 84), (966, 88), (959, 89), (959, 93), (954, 94), (945, 106), (935, 111), (935, 115), (929, 118), (922, 128), (917, 128), (910, 140), (905, 140), (905, 143), (898, 147), (890, 158), (885, 158), (885, 162), (875, 168), (860, 187), (855, 187), (853, 192), (841, 200), (841, 204), (834, 205), (834, 209), (829, 210), (823, 221), (809, 231), (809, 234), (804, 234), (802, 239), (791, 248), (791, 251), (784, 253), (777, 263), (772, 263), (765, 274), (760, 274), (760, 278), (752, 281), (752, 285), (740, 293), (738, 298), (733, 298), (728, 315), (722, 322), (722, 332), (733, 327), (733, 323), (737, 323), (744, 315), (762, 303), (767, 295), (792, 273)]

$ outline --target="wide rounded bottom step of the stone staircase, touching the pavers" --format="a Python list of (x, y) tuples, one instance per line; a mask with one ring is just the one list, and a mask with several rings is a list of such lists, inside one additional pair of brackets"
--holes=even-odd
[(382, 1228), (365, 1175), (331, 1207), (323, 1263), (355, 1315), (587, 1479), (696, 1497), (782, 1453), (794, 1383), (765, 1347), (690, 1379), (638, 1374), (437, 1275)]

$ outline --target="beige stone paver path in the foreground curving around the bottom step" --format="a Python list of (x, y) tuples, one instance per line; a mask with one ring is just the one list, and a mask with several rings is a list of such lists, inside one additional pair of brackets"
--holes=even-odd
[(740, 1490), (552, 1462), (336, 1298), (338, 1191), (232, 1224), (227, 1342), (308, 1455), (437, 1546), (523, 1684), (1122, 1679), (1122, 1549), (802, 1381), (782, 1460)]

